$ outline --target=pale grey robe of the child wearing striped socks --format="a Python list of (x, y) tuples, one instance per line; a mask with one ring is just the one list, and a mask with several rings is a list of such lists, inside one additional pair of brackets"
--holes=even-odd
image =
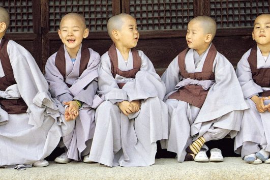
[[(185, 57), (187, 72), (202, 71), (208, 50), (209, 48), (197, 68), (194, 64), (193, 49), (188, 51)], [(169, 113), (169, 138), (167, 141), (162, 141), (162, 147), (177, 153), (179, 162), (185, 159), (186, 147), (206, 132), (215, 134), (215, 128), (221, 128), (231, 130), (230, 136), (234, 137), (240, 129), (243, 109), (248, 108), (232, 65), (219, 52), (215, 57), (213, 72), (215, 81), (183, 79), (179, 75), (178, 56), (176, 56), (161, 77), (167, 88), (164, 101), (168, 105)], [(184, 101), (167, 99), (179, 87), (189, 83), (201, 85), (204, 89), (209, 88), (201, 108)], [(204, 147), (207, 149), (206, 146)]]

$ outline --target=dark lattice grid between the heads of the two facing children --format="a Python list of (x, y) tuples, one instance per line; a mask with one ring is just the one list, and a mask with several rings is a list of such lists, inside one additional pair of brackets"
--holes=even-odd
[(187, 28), (193, 18), (193, 1), (130, 0), (130, 14), (140, 30)]

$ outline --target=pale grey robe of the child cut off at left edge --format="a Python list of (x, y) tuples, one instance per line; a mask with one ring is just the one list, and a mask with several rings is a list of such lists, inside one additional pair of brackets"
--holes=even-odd
[[(57, 146), (61, 138), (56, 124), (59, 113), (33, 56), (12, 40), (7, 49), (17, 84), (9, 86), (5, 93), (8, 99), (22, 97), (28, 109), (20, 114), (0, 109), (0, 166), (31, 167)], [(5, 76), (2, 65), (0, 76)]]

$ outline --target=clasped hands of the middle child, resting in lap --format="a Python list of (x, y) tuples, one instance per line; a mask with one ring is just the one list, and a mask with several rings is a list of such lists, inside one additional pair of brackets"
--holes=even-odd
[(125, 114), (129, 115), (135, 112), (138, 112), (140, 110), (140, 100), (134, 100), (134, 101), (122, 101), (118, 103), (119, 109)]

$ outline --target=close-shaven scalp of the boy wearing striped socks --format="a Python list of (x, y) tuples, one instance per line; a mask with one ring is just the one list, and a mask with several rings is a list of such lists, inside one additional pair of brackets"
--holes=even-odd
[(197, 16), (193, 18), (191, 21), (198, 21), (201, 27), (203, 28), (204, 33), (211, 34), (213, 40), (217, 32), (217, 23), (213, 18), (209, 16)]

